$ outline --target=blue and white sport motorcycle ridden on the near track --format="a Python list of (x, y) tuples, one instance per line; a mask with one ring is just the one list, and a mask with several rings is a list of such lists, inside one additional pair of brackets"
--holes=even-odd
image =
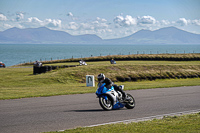
[[(122, 89), (124, 89), (123, 86)], [(105, 83), (99, 83), (96, 91), (99, 104), (104, 110), (112, 110), (126, 107), (133, 109), (135, 107), (135, 99), (131, 94), (126, 94), (126, 101), (122, 98), (122, 93), (115, 91), (112, 86), (110, 89), (105, 87)], [(128, 101), (127, 101), (128, 100)]]

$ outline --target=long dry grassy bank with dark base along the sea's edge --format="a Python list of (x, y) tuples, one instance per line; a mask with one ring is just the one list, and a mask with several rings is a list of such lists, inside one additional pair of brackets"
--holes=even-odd
[[(108, 56), (95, 56), (85, 58), (71, 58), (61, 60), (42, 61), (43, 64), (54, 64), (54, 63), (66, 63), (66, 62), (78, 62), (81, 59), (90, 61), (110, 61), (115, 59), (117, 61), (127, 60), (146, 60), (146, 61), (200, 61), (200, 53), (193, 54), (132, 54), (132, 55), (108, 55)], [(21, 65), (33, 65), (34, 62), (24, 63)]]

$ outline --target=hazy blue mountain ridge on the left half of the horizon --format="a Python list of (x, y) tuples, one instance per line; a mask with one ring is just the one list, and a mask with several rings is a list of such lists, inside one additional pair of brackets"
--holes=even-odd
[(64, 31), (50, 30), (46, 27), (11, 28), (0, 32), (0, 43), (6, 44), (93, 44), (101, 41), (100, 37), (93, 34), (73, 36)]

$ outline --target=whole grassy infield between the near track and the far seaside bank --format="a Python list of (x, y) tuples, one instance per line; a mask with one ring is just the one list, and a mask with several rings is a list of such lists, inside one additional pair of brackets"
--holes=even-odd
[[(62, 68), (38, 75), (33, 75), (33, 68), (0, 69), (0, 99), (94, 93), (96, 87), (86, 87), (85, 76), (94, 75), (96, 78), (99, 73), (104, 73), (116, 84), (124, 84), (125, 90), (200, 85), (200, 79), (195, 77), (200, 73), (200, 61), (117, 61), (115, 65), (109, 61), (87, 63), (87, 66)], [(78, 65), (78, 62), (54, 65)], [(185, 77), (182, 76), (184, 74)], [(149, 81), (150, 75), (158, 78)], [(128, 80), (122, 83), (119, 77)]]

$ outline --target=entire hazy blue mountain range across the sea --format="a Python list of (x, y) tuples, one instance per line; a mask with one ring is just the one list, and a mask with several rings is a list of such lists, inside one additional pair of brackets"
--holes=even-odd
[(123, 38), (102, 39), (94, 34), (70, 35), (46, 27), (11, 28), (0, 32), (0, 44), (200, 44), (200, 34), (166, 27), (140, 30)]

